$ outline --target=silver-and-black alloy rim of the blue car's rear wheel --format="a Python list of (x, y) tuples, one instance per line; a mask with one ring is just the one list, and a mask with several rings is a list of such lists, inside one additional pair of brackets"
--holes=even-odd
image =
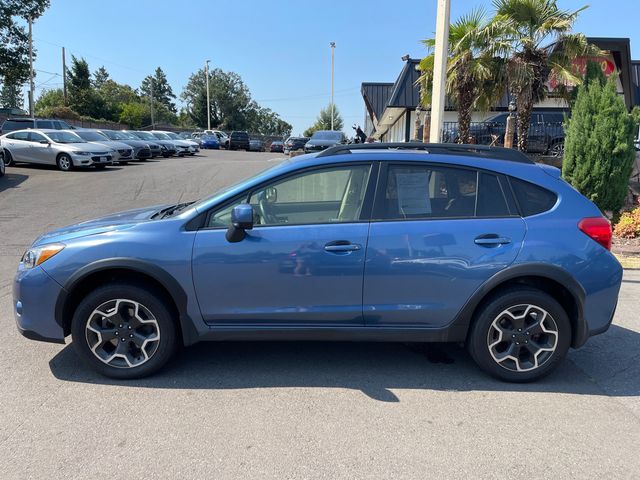
[(515, 305), (491, 323), (487, 347), (493, 360), (513, 372), (543, 366), (558, 345), (558, 326), (553, 317), (536, 305)]

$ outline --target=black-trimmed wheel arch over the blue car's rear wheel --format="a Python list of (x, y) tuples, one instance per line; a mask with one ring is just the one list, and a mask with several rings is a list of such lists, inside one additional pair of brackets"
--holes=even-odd
[(582, 346), (589, 337), (589, 329), (584, 319), (583, 306), (586, 293), (584, 288), (565, 270), (546, 264), (515, 265), (494, 275), (467, 301), (459, 321), (466, 332), (476, 313), (482, 306), (502, 291), (517, 286), (528, 286), (541, 290), (553, 297), (565, 310), (571, 323), (571, 346)]

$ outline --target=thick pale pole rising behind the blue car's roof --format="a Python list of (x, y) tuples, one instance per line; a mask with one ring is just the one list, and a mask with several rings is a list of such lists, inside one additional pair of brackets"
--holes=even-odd
[(449, 50), (449, 16), (451, 0), (438, 0), (436, 14), (436, 48), (434, 49), (433, 91), (431, 92), (431, 128), (429, 141), (439, 143), (444, 119), (447, 55)]

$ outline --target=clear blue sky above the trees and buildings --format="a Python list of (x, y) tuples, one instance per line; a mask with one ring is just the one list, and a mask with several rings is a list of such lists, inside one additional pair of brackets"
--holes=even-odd
[[(452, 0), (451, 20), (488, 0)], [(585, 2), (559, 0), (561, 8)], [(189, 75), (210, 68), (234, 71), (253, 99), (300, 134), (331, 99), (335, 49), (335, 103), (344, 131), (364, 123), (362, 82), (393, 82), (405, 54), (425, 55), (422, 39), (435, 31), (436, 0), (51, 0), (33, 26), (36, 95), (62, 86), (62, 53), (84, 57), (92, 71), (135, 88), (156, 67), (179, 97)], [(592, 0), (575, 30), (594, 37), (629, 37), (640, 59), (640, 0)], [(180, 105), (181, 102), (178, 102)]]

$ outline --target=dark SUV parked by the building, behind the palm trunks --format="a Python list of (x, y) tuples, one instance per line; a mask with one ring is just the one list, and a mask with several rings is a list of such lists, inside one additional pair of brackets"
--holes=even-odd
[[(504, 144), (508, 116), (508, 113), (500, 113), (484, 122), (472, 123), (469, 129), (472, 142), (479, 145)], [(563, 122), (563, 113), (533, 112), (529, 123), (527, 152), (562, 157), (564, 155)], [(457, 126), (445, 129), (444, 137), (447, 141), (457, 143)], [(514, 141), (517, 142), (517, 133), (514, 135)]]

